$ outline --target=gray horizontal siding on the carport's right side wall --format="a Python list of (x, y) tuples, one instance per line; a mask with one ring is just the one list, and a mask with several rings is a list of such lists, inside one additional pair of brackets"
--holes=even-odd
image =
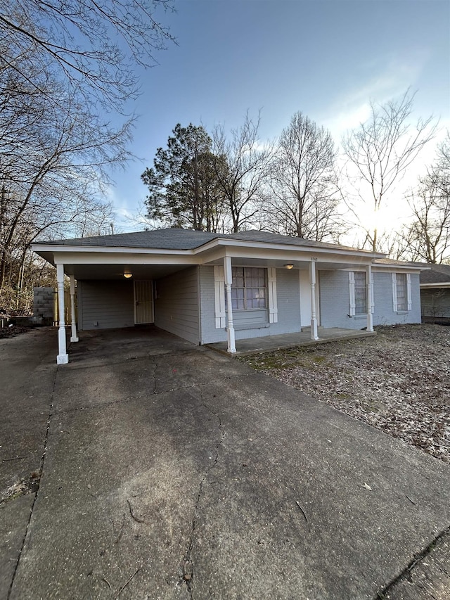
[(158, 279), (155, 291), (155, 325), (198, 344), (198, 267)]

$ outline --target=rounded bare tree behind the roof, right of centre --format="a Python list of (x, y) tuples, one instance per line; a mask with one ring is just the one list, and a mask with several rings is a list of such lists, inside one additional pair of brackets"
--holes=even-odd
[(316, 241), (338, 239), (343, 224), (335, 158), (330, 132), (295, 113), (281, 133), (271, 174), (269, 215), (277, 231)]

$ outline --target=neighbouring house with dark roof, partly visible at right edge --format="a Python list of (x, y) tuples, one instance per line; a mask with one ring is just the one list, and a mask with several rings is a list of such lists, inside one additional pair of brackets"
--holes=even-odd
[(450, 264), (426, 264), (420, 272), (424, 323), (450, 324)]

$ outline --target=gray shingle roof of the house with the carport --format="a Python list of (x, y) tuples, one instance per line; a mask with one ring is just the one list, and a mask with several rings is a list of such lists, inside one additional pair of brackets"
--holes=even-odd
[[(93, 236), (89, 238), (72, 238), (65, 240), (38, 241), (36, 244), (68, 245), (103, 248), (158, 248), (160, 250), (193, 250), (214, 239), (230, 239), (264, 243), (281, 243), (297, 246), (313, 246), (315, 248), (330, 248), (356, 250), (347, 246), (305, 240), (271, 234), (269, 231), (241, 231), (238, 234), (210, 234), (206, 231), (192, 229), (153, 229), (152, 231), (135, 231), (130, 234), (115, 234), (109, 236)], [(362, 250), (368, 252), (368, 250)]]

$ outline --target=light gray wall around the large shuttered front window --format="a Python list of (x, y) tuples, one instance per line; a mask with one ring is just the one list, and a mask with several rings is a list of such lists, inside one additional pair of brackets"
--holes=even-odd
[[(215, 327), (214, 267), (200, 267), (200, 295), (201, 343), (225, 341), (226, 329)], [(276, 269), (276, 295), (278, 323), (269, 324), (268, 310), (233, 311), (236, 340), (300, 331), (300, 284), (295, 269)]]

